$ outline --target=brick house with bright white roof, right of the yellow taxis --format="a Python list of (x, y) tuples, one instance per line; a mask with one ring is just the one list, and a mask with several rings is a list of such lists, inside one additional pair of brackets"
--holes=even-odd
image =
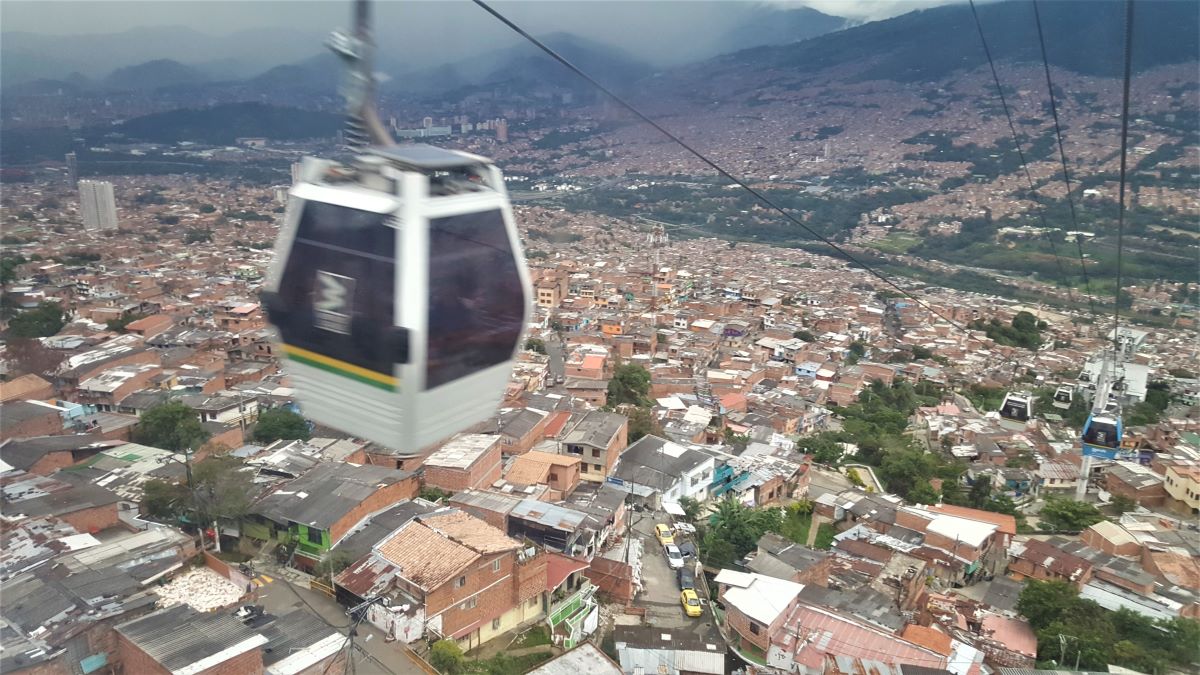
[(784, 623), (799, 604), (802, 584), (764, 574), (722, 569), (715, 579), (718, 598), (725, 604), (726, 626), (737, 633), (739, 647), (754, 645), (762, 652), (780, 635)]

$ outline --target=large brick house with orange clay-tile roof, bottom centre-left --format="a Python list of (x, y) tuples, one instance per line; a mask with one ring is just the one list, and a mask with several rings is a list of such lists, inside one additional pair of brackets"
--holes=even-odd
[(419, 515), (336, 579), (343, 603), (382, 595), (367, 620), (404, 643), (430, 637), (463, 650), (545, 616), (546, 555), (458, 510)]

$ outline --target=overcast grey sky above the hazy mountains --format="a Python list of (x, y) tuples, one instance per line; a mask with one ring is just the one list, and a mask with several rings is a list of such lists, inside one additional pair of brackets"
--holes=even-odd
[[(671, 65), (707, 56), (706, 41), (728, 30), (748, 6), (810, 6), (828, 14), (871, 20), (964, 0), (494, 0), (494, 6), (535, 35), (565, 31)], [(448, 62), (518, 40), (466, 0), (376, 0), (376, 36), (389, 55)], [(286, 29), (323, 35), (348, 26), (350, 0), (4, 0), (5, 31), (48, 35), (112, 34), (133, 28), (187, 26), (210, 35)], [(312, 52), (323, 52), (318, 40)], [(298, 46), (299, 47), (299, 46)], [(164, 58), (167, 54), (150, 54)]]

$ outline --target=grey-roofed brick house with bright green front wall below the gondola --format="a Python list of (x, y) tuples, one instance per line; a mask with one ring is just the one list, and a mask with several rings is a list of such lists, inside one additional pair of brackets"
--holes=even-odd
[(294, 542), (296, 567), (311, 568), (365, 518), (415, 497), (419, 489), (412, 472), (324, 462), (260, 498), (241, 532), (258, 540)]

